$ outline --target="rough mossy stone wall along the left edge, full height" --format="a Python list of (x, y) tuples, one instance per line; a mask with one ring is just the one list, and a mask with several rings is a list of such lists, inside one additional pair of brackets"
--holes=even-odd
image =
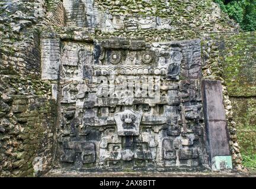
[(49, 170), (55, 101), (41, 78), (40, 26), (44, 1), (0, 1), (0, 175)]

